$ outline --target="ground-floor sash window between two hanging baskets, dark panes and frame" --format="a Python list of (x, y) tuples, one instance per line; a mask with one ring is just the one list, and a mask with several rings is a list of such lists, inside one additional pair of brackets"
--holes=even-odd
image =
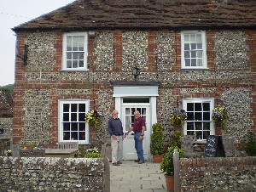
[(184, 99), (183, 109), (188, 119), (184, 124), (185, 135), (196, 135), (197, 139), (207, 139), (213, 134), (212, 109), (213, 99)]

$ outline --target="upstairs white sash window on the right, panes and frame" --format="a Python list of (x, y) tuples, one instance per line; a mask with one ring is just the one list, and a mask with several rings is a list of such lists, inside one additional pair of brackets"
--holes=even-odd
[(207, 68), (207, 41), (205, 31), (181, 32), (182, 69)]

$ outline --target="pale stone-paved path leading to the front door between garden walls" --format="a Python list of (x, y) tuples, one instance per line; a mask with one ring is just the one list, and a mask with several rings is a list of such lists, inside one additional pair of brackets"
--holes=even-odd
[(110, 167), (111, 192), (166, 192), (166, 179), (160, 170), (160, 163), (147, 161), (138, 164), (122, 161), (120, 166)]

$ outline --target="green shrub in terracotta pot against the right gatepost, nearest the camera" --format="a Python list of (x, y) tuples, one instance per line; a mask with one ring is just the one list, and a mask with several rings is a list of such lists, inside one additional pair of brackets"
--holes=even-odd
[(168, 148), (163, 160), (160, 164), (160, 170), (165, 172), (166, 187), (168, 191), (174, 191), (174, 164), (173, 164), (173, 152), (177, 149), (179, 153), (179, 158), (183, 157), (184, 152), (181, 148), (181, 137), (182, 132), (175, 131), (172, 134), (171, 146)]

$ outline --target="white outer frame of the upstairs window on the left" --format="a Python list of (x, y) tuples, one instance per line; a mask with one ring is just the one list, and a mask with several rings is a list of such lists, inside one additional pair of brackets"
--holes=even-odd
[[(67, 37), (84, 37), (84, 66), (76, 68), (67, 68)], [(67, 32), (63, 34), (62, 41), (62, 71), (88, 71), (87, 58), (88, 58), (88, 32)], [(71, 51), (72, 52), (72, 51)], [(81, 52), (81, 51), (80, 51)]]

